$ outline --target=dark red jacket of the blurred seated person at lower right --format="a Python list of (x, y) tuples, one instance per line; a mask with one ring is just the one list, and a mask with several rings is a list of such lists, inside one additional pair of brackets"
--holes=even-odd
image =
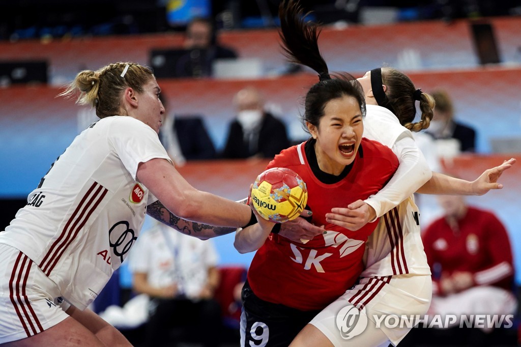
[(514, 263), (505, 227), (492, 213), (467, 207), (457, 221), (459, 231), (451, 229), (445, 218), (432, 222), (422, 235), (425, 254), (432, 271), (435, 293), (442, 272), (467, 271), (478, 286), (512, 290)]

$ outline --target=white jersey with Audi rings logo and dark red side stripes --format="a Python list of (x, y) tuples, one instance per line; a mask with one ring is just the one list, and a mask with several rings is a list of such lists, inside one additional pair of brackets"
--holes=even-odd
[(139, 163), (170, 161), (157, 133), (132, 117), (103, 118), (51, 166), (0, 243), (16, 247), (80, 309), (127, 256), (157, 200), (137, 181)]

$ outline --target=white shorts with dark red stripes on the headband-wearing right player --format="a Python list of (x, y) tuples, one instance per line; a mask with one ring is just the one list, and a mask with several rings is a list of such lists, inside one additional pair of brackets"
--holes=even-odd
[[(425, 315), (431, 297), (432, 280), (430, 275), (366, 277), (323, 309), (313, 318), (310, 324), (324, 333), (334, 346), (376, 346), (386, 343), (386, 341), (377, 341), (371, 338), (372, 335), (383, 336), (382, 334), (371, 333), (371, 330), (374, 332), (375, 329), (381, 330), (387, 340), (396, 345), (411, 330), (411, 327), (388, 328), (381, 324), (381, 320), (380, 324), (377, 325), (377, 320), (382, 316), (390, 315)], [(355, 315), (353, 315), (353, 311), (347, 312), (349, 311), (347, 308), (351, 306), (363, 308), (365, 314), (361, 315), (355, 312)], [(367, 328), (359, 323), (365, 319), (362, 316), (367, 316)], [(375, 318), (375, 316), (377, 317)], [(342, 321), (342, 318), (344, 321)], [(353, 327), (353, 325), (356, 326)], [(344, 330), (343, 333), (341, 328)], [(353, 328), (354, 330), (350, 330)], [(356, 329), (358, 329), (358, 333), (356, 333)], [(346, 334), (349, 333), (352, 336), (348, 338)], [(367, 343), (367, 341), (370, 341), (370, 343)]]

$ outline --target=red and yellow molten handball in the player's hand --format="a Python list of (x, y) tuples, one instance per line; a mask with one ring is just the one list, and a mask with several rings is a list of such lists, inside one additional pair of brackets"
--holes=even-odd
[(253, 183), (252, 202), (264, 219), (275, 223), (295, 219), (306, 206), (306, 183), (291, 169), (268, 169)]

